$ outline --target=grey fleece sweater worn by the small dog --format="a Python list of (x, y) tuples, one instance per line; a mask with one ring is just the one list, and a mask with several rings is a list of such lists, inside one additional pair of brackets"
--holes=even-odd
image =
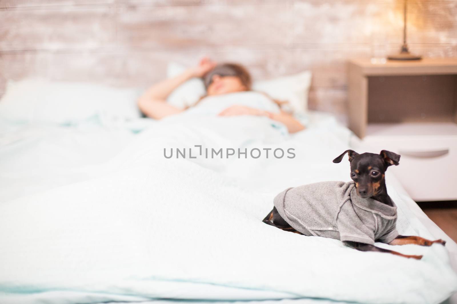
[(307, 236), (374, 244), (399, 235), (397, 207), (361, 198), (353, 181), (288, 188), (275, 197), (274, 205), (290, 226)]

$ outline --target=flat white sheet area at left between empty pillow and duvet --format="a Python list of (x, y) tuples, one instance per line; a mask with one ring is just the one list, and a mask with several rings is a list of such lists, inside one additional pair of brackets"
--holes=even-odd
[(51, 190), (96, 175), (91, 168), (124, 149), (154, 121), (122, 124), (13, 124), (0, 119), (0, 202)]

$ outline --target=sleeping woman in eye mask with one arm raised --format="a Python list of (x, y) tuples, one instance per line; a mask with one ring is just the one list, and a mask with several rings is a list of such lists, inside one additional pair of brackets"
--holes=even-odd
[[(196, 101), (197, 103), (191, 108), (176, 108), (167, 103), (168, 95), (192, 77), (202, 77), (206, 95)], [(203, 58), (197, 67), (189, 68), (176, 77), (154, 84), (138, 99), (138, 106), (146, 116), (162, 119), (211, 104), (210, 108), (213, 112), (216, 111), (214, 115), (266, 116), (284, 124), (289, 133), (304, 129), (291, 114), (281, 110), (280, 103), (266, 94), (252, 92), (250, 89), (251, 77), (243, 66), (231, 63), (218, 65), (208, 58)], [(240, 95), (242, 93), (244, 93), (243, 96)]]

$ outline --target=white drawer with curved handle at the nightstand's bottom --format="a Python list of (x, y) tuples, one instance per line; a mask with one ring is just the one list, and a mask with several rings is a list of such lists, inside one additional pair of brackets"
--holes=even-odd
[(362, 146), (401, 155), (388, 170), (415, 201), (457, 200), (457, 135), (368, 135)]

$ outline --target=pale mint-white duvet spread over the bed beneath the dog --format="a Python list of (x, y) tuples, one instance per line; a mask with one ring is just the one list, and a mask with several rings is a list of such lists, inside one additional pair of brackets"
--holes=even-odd
[[(247, 116), (182, 116), (152, 124), (134, 137), (119, 130), (107, 134), (119, 134), (125, 148), (107, 162), (92, 158), (62, 168), (49, 160), (55, 180), (46, 168), (27, 172), (18, 163), (32, 156), (27, 149), (8, 150), (11, 143), (0, 149), (5, 168), (0, 303), (302, 299), (296, 301), (429, 304), (456, 290), (457, 277), (441, 245), (392, 247), (423, 254), (417, 261), (358, 252), (337, 240), (304, 237), (261, 222), (273, 197), (287, 187), (349, 180), (348, 162), (332, 160), (348, 148), (350, 133), (333, 120), (311, 121), (310, 128), (293, 136), (269, 119)], [(48, 146), (38, 149), (33, 138), (16, 145), (25, 142), (43, 157), (41, 149)], [(296, 157), (164, 157), (164, 148), (194, 145), (293, 148)], [(29, 167), (37, 170), (33, 162)], [(22, 174), (8, 183), (15, 168)], [(33, 178), (40, 174), (48, 181)], [(32, 190), (22, 178), (29, 179)], [(389, 171), (387, 182), (399, 207), (400, 234), (432, 238), (409, 210), (409, 197), (390, 183)]]

